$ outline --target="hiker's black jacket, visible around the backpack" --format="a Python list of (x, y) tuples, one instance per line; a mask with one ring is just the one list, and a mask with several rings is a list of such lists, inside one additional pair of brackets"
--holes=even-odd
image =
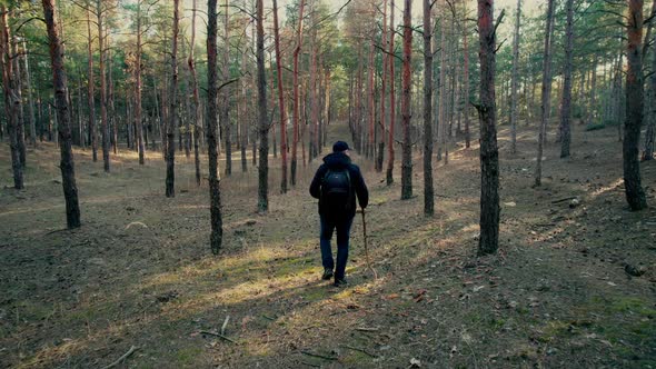
[[(362, 178), (362, 173), (360, 172), (360, 168), (358, 166), (351, 163), (350, 158), (344, 152), (332, 152), (324, 158), (324, 163), (317, 169), (317, 173), (312, 179), (312, 183), (310, 184), (310, 195), (319, 199), (319, 213), (324, 215), (325, 209), (321, 209), (321, 182), (324, 181), (324, 177), (326, 177), (326, 172), (328, 169), (331, 170), (340, 170), (347, 168), (348, 173), (350, 177), (351, 186), (358, 196), (358, 203), (360, 208), (366, 208), (369, 205), (369, 191), (367, 190), (367, 184), (365, 184), (365, 179)], [(347, 213), (345, 216), (354, 217), (356, 215), (356, 197), (351, 197), (351, 203), (348, 207)]]

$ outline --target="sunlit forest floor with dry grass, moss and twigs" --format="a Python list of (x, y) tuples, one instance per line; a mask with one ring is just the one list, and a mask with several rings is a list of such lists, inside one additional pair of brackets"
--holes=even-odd
[[(119, 367), (656, 368), (656, 162), (642, 167), (652, 208), (630, 212), (615, 129), (577, 126), (567, 160), (550, 134), (540, 188), (531, 188), (535, 129), (520, 128), (514, 156), (500, 129), (499, 252), (476, 257), (477, 147), (435, 166), (433, 219), (423, 215), (419, 153), (408, 201), (398, 167), (387, 187), (356, 157), (378, 279), (357, 218), (342, 289), (320, 280), (307, 190), (317, 161), (285, 196), (271, 170), (261, 216), (257, 173), (235, 160), (215, 257), (207, 183), (195, 186), (192, 159), (178, 157), (177, 196), (167, 199), (159, 153), (145, 167), (132, 152), (112, 156), (107, 174), (76, 151), (83, 225), (68, 231), (58, 150), (30, 150), (26, 190), (16, 191), (3, 143), (0, 367), (97, 368), (133, 346)], [(350, 141), (344, 124), (331, 138)]]

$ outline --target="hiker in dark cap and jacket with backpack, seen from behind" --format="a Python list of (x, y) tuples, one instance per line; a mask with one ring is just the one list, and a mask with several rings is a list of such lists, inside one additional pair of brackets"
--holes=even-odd
[[(324, 163), (310, 184), (310, 195), (319, 199), (319, 216), (321, 219), (321, 263), (324, 275), (321, 279), (329, 280), (335, 276), (335, 286), (346, 286), (345, 270), (348, 260), (348, 239), (350, 227), (356, 216), (356, 196), (360, 208), (369, 203), (369, 191), (360, 168), (351, 163), (348, 143), (337, 141), (332, 146), (332, 153), (324, 158)], [(332, 259), (330, 239), (337, 229), (337, 267)], [(335, 272), (332, 269), (335, 268)]]

